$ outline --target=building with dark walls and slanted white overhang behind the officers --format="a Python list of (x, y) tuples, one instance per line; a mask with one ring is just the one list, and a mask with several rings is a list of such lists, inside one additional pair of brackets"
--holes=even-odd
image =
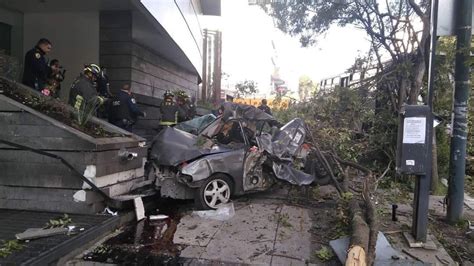
[[(220, 15), (220, 0), (0, 0), (0, 50), (23, 63), (38, 39), (67, 69), (63, 99), (86, 63), (107, 68), (111, 88), (130, 83), (141, 107), (157, 113), (165, 90), (199, 97), (203, 70), (201, 15)], [(136, 125), (151, 138), (152, 115)]]

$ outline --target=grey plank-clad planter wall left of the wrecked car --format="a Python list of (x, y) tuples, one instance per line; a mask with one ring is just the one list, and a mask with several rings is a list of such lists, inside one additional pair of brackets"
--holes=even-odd
[[(144, 181), (145, 140), (100, 119), (91, 122), (118, 137), (94, 138), (0, 94), (0, 139), (61, 156), (111, 197), (139, 187)], [(124, 150), (138, 156), (124, 160), (119, 156)], [(74, 200), (87, 187), (59, 160), (0, 144), (0, 208), (102, 211), (102, 197), (89, 189), (82, 192), (82, 201)]]

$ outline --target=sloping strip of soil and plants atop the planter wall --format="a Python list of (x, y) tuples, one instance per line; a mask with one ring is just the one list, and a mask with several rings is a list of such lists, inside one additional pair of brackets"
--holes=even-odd
[(75, 114), (66, 108), (65, 103), (57, 99), (29, 92), (3, 79), (0, 79), (0, 93), (94, 138), (123, 136), (122, 134), (109, 132), (102, 126), (92, 122), (81, 126), (76, 123)]

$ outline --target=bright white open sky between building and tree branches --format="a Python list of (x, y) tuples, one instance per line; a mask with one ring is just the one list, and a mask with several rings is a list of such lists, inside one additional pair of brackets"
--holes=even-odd
[(315, 45), (303, 48), (298, 37), (277, 29), (273, 19), (259, 6), (249, 6), (248, 0), (223, 0), (222, 16), (205, 17), (202, 26), (222, 31), (222, 71), (229, 75), (222, 80), (222, 86), (233, 87), (238, 81), (254, 80), (261, 96), (270, 94), (272, 56), (277, 58), (288, 88), (297, 91), (301, 75), (316, 81), (336, 76), (369, 48), (364, 32), (336, 26), (320, 36)]

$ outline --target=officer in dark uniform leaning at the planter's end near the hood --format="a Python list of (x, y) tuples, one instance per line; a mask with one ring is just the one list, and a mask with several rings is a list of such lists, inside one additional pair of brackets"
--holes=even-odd
[(110, 103), (109, 122), (131, 132), (139, 116), (146, 114), (138, 109), (130, 85), (125, 84)]

